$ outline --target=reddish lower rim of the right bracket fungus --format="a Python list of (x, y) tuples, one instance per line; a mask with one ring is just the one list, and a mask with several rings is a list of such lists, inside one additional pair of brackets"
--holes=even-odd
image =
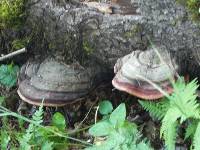
[[(170, 94), (173, 92), (173, 88), (170, 86), (170, 83), (166, 84), (166, 82), (165, 83), (163, 82), (163, 84), (161, 83), (161, 85), (159, 86), (162, 87), (164, 91)], [(156, 100), (163, 97), (163, 94), (160, 93), (155, 88), (149, 90), (149, 89), (146, 89), (144, 86), (138, 86), (138, 85), (130, 84), (128, 82), (122, 82), (122, 81), (120, 82), (116, 77), (112, 80), (112, 84), (118, 90), (127, 92), (131, 95), (137, 96), (142, 99)]]

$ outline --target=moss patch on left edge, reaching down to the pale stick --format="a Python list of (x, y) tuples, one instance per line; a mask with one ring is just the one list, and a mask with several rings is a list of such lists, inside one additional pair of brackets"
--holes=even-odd
[(0, 47), (6, 49), (6, 53), (28, 44), (29, 38), (22, 34), (27, 2), (28, 0), (0, 0), (0, 37), (5, 40), (1, 41)]

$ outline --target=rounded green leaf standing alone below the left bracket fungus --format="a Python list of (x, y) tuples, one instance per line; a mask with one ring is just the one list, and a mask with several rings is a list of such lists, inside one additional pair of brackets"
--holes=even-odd
[(52, 118), (52, 125), (60, 130), (65, 130), (66, 128), (65, 117), (61, 113), (56, 112)]

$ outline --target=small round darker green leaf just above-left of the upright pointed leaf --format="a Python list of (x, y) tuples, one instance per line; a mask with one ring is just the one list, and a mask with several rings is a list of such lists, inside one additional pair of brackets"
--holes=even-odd
[(107, 115), (109, 113), (111, 113), (113, 110), (113, 106), (112, 106), (112, 103), (110, 101), (102, 101), (100, 102), (99, 104), (99, 112), (102, 114), (102, 115)]

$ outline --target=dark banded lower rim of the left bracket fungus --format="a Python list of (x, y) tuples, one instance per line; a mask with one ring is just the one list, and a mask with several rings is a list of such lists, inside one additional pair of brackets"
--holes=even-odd
[(17, 93), (20, 98), (30, 104), (40, 105), (44, 99), (44, 106), (63, 106), (76, 102), (76, 99), (86, 95), (86, 92), (53, 92), (44, 91), (30, 85), (29, 80), (20, 83)]

